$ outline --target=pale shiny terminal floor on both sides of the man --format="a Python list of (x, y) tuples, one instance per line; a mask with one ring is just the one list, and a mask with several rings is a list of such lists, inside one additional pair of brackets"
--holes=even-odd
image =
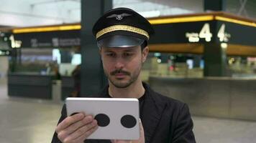
[[(0, 143), (50, 142), (62, 104), (35, 99), (9, 99), (0, 84)], [(256, 142), (256, 122), (193, 117), (196, 141), (201, 143)]]

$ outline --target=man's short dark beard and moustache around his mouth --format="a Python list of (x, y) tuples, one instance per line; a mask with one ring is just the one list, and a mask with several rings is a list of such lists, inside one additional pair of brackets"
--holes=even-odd
[[(130, 73), (129, 71), (124, 71), (122, 69), (111, 71), (110, 73), (107, 73), (106, 70), (104, 69), (104, 72), (106, 74), (106, 77), (109, 79), (109, 82), (111, 82), (111, 84), (113, 84), (114, 87), (127, 88), (132, 83), (137, 81), (140, 75), (140, 69), (141, 69), (141, 66), (132, 73)], [(115, 74), (124, 74), (126, 75), (126, 77), (124, 79), (116, 79), (114, 77)]]

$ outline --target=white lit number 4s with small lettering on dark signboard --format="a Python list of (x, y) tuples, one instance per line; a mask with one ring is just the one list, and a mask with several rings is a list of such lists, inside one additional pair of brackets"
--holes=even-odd
[[(225, 32), (225, 24), (222, 24), (217, 36), (219, 37), (219, 41), (221, 42), (227, 42), (229, 41), (229, 38), (231, 37), (230, 34), (227, 34)], [(210, 24), (206, 23), (204, 24), (203, 28), (199, 33), (186, 33), (186, 37), (188, 38), (189, 42), (198, 42), (199, 39), (205, 39), (206, 41), (211, 41), (211, 31), (210, 31)]]

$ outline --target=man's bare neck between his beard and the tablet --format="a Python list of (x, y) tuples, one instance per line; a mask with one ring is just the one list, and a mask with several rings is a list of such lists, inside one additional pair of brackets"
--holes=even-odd
[[(140, 82), (139, 82), (140, 81)], [(145, 93), (142, 81), (139, 80), (126, 88), (117, 88), (109, 83), (109, 95), (114, 98), (137, 98), (139, 99)]]

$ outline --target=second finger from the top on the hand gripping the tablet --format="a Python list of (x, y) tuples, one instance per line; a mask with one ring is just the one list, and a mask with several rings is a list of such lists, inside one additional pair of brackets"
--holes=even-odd
[(83, 119), (81, 119), (80, 121), (78, 121), (74, 124), (71, 124), (69, 127), (63, 129), (62, 131), (60, 131), (58, 133), (59, 139), (65, 139), (65, 137), (68, 137), (69, 134), (72, 134), (80, 127), (83, 127), (85, 124), (89, 124), (92, 121), (93, 121), (93, 117), (91, 115), (88, 115), (88, 116), (84, 117)]

